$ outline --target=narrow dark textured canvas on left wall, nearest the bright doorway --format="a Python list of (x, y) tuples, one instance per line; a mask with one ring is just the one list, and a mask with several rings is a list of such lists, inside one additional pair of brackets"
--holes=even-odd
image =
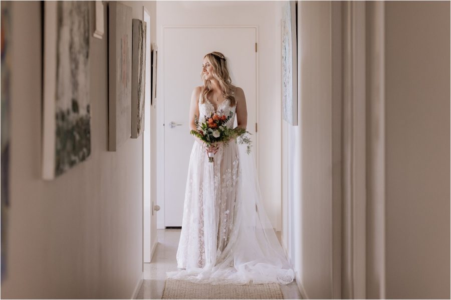
[(133, 19), (131, 137), (144, 131), (146, 84), (146, 22)]

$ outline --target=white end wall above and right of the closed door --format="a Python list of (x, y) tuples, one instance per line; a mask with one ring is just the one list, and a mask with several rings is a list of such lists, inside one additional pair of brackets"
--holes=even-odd
[[(158, 1), (157, 41), (161, 41), (163, 25), (258, 26), (259, 178), (268, 216), (273, 226), (280, 228), (281, 107), (280, 56), (277, 54), (280, 42), (276, 40), (280, 32), (280, 18), (274, 17), (277, 5), (277, 1)], [(199, 53), (199, 61), (203, 54)], [(159, 61), (160, 71), (161, 63)], [(159, 76), (162, 77), (161, 73)], [(161, 84), (161, 80), (157, 82)], [(162, 85), (158, 88), (161, 90)], [(157, 101), (161, 100), (159, 98)]]

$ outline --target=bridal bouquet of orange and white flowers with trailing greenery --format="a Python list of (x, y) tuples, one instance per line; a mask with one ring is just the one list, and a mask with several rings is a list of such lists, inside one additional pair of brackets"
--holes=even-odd
[[(197, 136), (208, 146), (217, 142), (222, 142), (224, 146), (229, 145), (232, 138), (237, 138), (238, 143), (246, 144), (246, 153), (251, 153), (252, 142), (248, 134), (251, 134), (245, 128), (236, 127), (231, 128), (227, 126), (227, 122), (232, 118), (231, 111), (228, 116), (225, 116), (222, 111), (211, 112), (209, 116), (205, 115), (205, 121), (199, 123), (197, 116), (194, 116), (194, 124), (196, 130), (191, 130), (190, 133)], [(213, 152), (208, 152), (208, 161), (213, 162)]]

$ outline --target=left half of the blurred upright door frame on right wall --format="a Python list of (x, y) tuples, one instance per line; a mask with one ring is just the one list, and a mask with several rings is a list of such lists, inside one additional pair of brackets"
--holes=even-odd
[(342, 298), (366, 298), (365, 3), (342, 2)]

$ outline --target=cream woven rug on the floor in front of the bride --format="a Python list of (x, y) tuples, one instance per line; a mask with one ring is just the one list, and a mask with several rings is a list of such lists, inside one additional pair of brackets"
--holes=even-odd
[(283, 299), (279, 284), (198, 284), (166, 279), (162, 299)]

